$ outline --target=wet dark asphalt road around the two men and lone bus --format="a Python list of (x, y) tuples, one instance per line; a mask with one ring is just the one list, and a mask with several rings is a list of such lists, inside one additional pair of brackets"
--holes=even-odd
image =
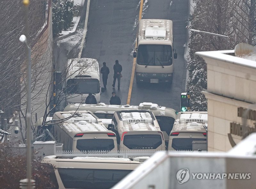
[[(101, 94), (101, 102), (109, 103), (111, 92), (126, 104), (132, 72), (132, 51), (135, 46), (140, 1), (139, 0), (105, 0), (91, 1), (88, 31), (82, 57), (96, 58), (102, 66), (106, 62), (110, 68), (107, 91)], [(180, 93), (185, 91), (186, 62), (184, 47), (186, 43), (186, 21), (188, 19), (188, 0), (149, 0), (143, 6), (143, 19), (171, 19), (173, 21), (174, 48), (178, 59), (174, 62), (174, 78), (171, 87), (146, 84), (142, 87), (133, 81), (131, 105), (140, 102), (154, 102), (159, 105), (179, 110)], [(112, 88), (113, 65), (115, 60), (123, 66), (121, 89)], [(101, 86), (103, 86), (101, 81)]]

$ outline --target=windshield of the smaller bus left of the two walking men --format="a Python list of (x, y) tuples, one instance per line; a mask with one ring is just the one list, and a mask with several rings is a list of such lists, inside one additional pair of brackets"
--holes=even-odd
[(88, 94), (99, 93), (100, 82), (98, 79), (68, 79), (66, 93), (68, 94)]

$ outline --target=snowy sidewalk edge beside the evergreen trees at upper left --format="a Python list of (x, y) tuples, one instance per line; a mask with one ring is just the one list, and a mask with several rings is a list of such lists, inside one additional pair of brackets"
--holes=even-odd
[(76, 30), (77, 30), (77, 27), (78, 27), (78, 24), (80, 22), (80, 19), (85, 11), (85, 6), (84, 6), (84, 1), (85, 0), (74, 0), (74, 5), (78, 7), (78, 16), (74, 16), (73, 17), (73, 23), (74, 25), (71, 26), (70, 28), (68, 28), (67, 31), (62, 31), (60, 33), (60, 36), (59, 37), (56, 37), (53, 39), (53, 42), (57, 42), (59, 40), (62, 40), (62, 39), (65, 39), (71, 35), (74, 35), (76, 34)]

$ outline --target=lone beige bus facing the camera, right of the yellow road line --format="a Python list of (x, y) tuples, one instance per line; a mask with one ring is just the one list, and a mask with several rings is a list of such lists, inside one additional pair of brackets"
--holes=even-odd
[(177, 58), (173, 49), (172, 20), (141, 19), (133, 57), (137, 57), (137, 83), (172, 83), (173, 59)]

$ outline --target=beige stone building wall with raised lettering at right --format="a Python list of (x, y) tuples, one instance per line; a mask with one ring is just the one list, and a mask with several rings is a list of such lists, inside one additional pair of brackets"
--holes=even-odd
[(245, 137), (239, 134), (240, 131), (234, 134), (230, 123), (240, 124), (239, 128), (246, 128), (246, 131), (244, 124), (253, 129), (256, 125), (255, 119), (238, 116), (239, 108), (256, 110), (253, 105), (256, 102), (256, 62), (228, 55), (230, 52), (196, 53), (207, 64), (207, 90), (202, 93), (208, 103), (209, 151), (228, 151), (232, 148), (232, 140), (237, 144)]

